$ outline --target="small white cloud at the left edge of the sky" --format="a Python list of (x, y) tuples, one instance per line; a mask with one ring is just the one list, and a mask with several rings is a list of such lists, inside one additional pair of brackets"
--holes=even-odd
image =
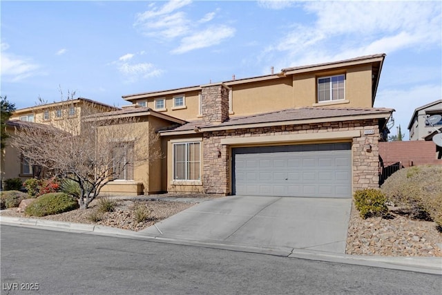
[(22, 79), (38, 75), (40, 66), (28, 57), (7, 53), (9, 45), (1, 43), (1, 77), (8, 82), (19, 82)]

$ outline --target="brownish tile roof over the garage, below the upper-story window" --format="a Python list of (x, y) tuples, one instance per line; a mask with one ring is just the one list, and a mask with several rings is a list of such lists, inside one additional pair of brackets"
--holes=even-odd
[[(312, 118), (320, 119), (327, 117), (349, 117), (356, 115), (376, 115), (381, 113), (392, 113), (392, 108), (289, 108), (282, 111), (273, 111), (269, 113), (259, 113), (256, 115), (231, 117), (221, 124), (204, 124), (204, 120), (195, 120), (182, 126), (168, 131), (191, 131), (195, 128), (209, 128), (222, 126), (238, 126), (244, 124), (277, 123), (296, 120), (309, 120)], [(167, 132), (167, 131), (163, 131)]]

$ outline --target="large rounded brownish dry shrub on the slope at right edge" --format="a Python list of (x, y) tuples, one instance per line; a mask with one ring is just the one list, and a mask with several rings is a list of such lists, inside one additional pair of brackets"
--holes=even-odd
[(390, 202), (412, 218), (430, 219), (442, 226), (442, 166), (401, 169), (381, 187)]

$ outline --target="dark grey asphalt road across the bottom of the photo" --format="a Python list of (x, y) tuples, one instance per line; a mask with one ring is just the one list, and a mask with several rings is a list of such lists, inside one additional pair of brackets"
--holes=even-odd
[(0, 237), (1, 294), (442, 292), (441, 276), (376, 267), (6, 225)]

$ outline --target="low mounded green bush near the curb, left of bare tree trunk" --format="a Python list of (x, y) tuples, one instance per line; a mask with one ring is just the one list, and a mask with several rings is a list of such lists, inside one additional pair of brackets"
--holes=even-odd
[(77, 208), (79, 208), (77, 200), (66, 193), (47, 193), (29, 204), (25, 209), (25, 214), (28, 216), (46, 216)]

